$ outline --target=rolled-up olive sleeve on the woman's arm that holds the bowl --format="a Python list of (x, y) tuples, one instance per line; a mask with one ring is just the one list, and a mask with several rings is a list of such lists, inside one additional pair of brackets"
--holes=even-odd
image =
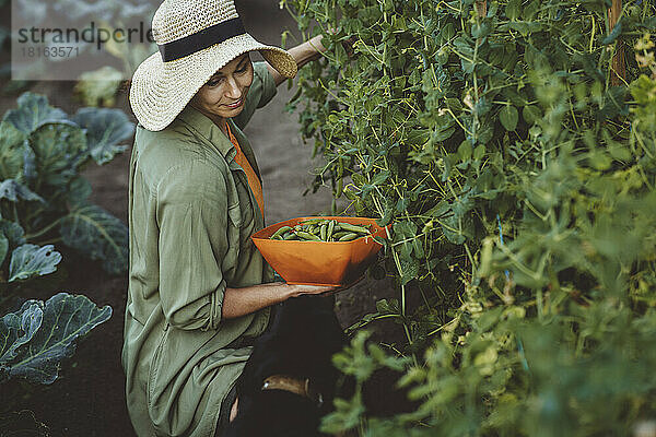
[(168, 170), (157, 186), (160, 298), (178, 329), (216, 329), (225, 292), (225, 179), (204, 163)]

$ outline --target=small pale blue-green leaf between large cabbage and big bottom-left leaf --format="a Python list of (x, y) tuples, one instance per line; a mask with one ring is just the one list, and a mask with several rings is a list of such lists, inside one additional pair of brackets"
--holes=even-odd
[(9, 282), (25, 281), (34, 276), (43, 276), (57, 270), (61, 261), (61, 253), (55, 246), (22, 245), (11, 253), (9, 264)]

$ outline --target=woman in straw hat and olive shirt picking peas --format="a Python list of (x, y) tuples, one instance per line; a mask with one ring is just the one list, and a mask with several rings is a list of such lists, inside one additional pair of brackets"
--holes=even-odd
[[(271, 282), (250, 241), (263, 227), (259, 170), (242, 132), (256, 108), (320, 56), (248, 35), (232, 0), (165, 0), (156, 52), (137, 69), (130, 279), (122, 365), (141, 436), (219, 435), (272, 305), (333, 287)], [(259, 50), (267, 62), (251, 63)]]

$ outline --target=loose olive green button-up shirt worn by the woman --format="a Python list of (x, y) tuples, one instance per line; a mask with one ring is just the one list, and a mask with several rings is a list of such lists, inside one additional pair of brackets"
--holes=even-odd
[[(229, 119), (259, 176), (241, 129), (276, 95), (265, 62), (242, 113)], [(129, 182), (130, 271), (122, 366), (139, 437), (214, 436), (221, 402), (260, 334), (269, 308), (223, 320), (225, 287), (271, 282), (250, 235), (263, 217), (236, 150), (208, 117), (187, 106), (164, 130), (137, 127)]]

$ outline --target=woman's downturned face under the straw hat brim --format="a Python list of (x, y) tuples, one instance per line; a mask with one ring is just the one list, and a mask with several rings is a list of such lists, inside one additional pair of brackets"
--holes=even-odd
[(244, 54), (219, 69), (189, 104), (214, 121), (235, 117), (244, 109), (251, 83), (253, 63), (248, 54)]

